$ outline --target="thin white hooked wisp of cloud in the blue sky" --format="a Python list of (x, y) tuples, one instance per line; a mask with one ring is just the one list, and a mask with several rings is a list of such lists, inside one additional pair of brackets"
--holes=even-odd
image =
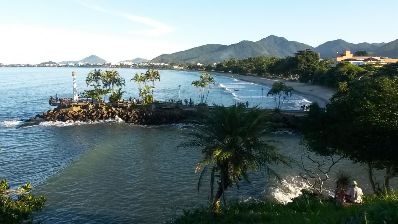
[(131, 34), (139, 34), (139, 35), (143, 35), (145, 37), (158, 37), (161, 35), (164, 35), (166, 33), (170, 33), (172, 31), (174, 31), (174, 28), (166, 25), (166, 24), (162, 24), (160, 22), (156, 22), (154, 20), (151, 20), (150, 18), (144, 18), (144, 17), (139, 17), (139, 16), (133, 16), (131, 14), (128, 13), (123, 13), (123, 12), (115, 12), (112, 10), (108, 10), (108, 9), (103, 9), (100, 8), (98, 6), (92, 5), (92, 4), (86, 4), (85, 2), (80, 2), (78, 0), (75, 0), (75, 2), (86, 6), (87, 8), (91, 8), (93, 10), (97, 10), (99, 12), (103, 12), (106, 14), (110, 14), (113, 16), (119, 16), (122, 18), (125, 18), (127, 20), (131, 20), (134, 22), (139, 22), (141, 24), (145, 24), (148, 26), (151, 26), (152, 29), (145, 29), (145, 30), (138, 30), (138, 31), (127, 31), (127, 33), (131, 33)]

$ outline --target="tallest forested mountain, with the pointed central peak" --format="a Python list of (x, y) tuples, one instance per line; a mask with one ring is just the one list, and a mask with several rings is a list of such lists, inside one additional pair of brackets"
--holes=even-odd
[(200, 47), (194, 47), (186, 51), (179, 51), (172, 54), (163, 54), (151, 60), (154, 63), (198, 63), (202, 62), (202, 57), (206, 64), (228, 60), (231, 57), (236, 59), (244, 59), (257, 55), (285, 57), (293, 55), (305, 47), (313, 49), (313, 47), (296, 41), (288, 41), (283, 37), (270, 35), (257, 42), (240, 41), (232, 45), (207, 44)]

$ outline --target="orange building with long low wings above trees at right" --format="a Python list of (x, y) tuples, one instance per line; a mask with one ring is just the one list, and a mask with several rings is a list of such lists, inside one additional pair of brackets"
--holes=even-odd
[(398, 59), (391, 59), (388, 57), (354, 56), (354, 54), (352, 54), (351, 51), (343, 51), (342, 54), (338, 54), (336, 55), (336, 57), (333, 57), (332, 59), (336, 63), (347, 61), (353, 65), (363, 65), (363, 64), (385, 65), (388, 63), (398, 62)]

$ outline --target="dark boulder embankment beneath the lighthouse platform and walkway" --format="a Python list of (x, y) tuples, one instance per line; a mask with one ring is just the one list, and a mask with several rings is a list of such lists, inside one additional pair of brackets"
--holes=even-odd
[[(189, 118), (198, 116), (197, 110), (181, 108), (123, 108), (106, 106), (88, 110), (49, 110), (25, 120), (20, 127), (34, 126), (41, 122), (96, 122), (100, 120), (120, 118), (129, 124), (161, 125), (189, 123)], [(287, 128), (300, 129), (302, 116), (277, 113), (273, 114), (273, 122), (285, 124)]]

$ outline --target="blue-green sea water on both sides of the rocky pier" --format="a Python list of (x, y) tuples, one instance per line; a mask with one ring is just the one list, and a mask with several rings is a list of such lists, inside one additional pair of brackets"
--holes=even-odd
[[(74, 68), (78, 91), (86, 88), (85, 74), (90, 68)], [(197, 193), (198, 174), (195, 166), (200, 151), (176, 150), (184, 141), (183, 134), (192, 126), (135, 126), (120, 120), (92, 124), (45, 122), (39, 126), (15, 129), (20, 119), (49, 110), (50, 95), (71, 96), (71, 68), (0, 68), (0, 177), (13, 187), (31, 181), (37, 195), (47, 197), (44, 210), (35, 214), (43, 223), (161, 223), (208, 200), (209, 185)], [(127, 96), (137, 97), (137, 84), (129, 82), (139, 69), (118, 69), (126, 78)], [(190, 86), (199, 79), (196, 72), (160, 71), (155, 98), (193, 98), (197, 90)], [(214, 76), (217, 82), (209, 102), (261, 103), (261, 87), (236, 79)], [(264, 86), (264, 92), (269, 87)], [(272, 98), (264, 97), (264, 107), (273, 107)], [(289, 99), (285, 108), (297, 108), (306, 100)], [(280, 151), (295, 159), (300, 157), (295, 134), (271, 134)], [(309, 164), (309, 163), (308, 163)], [(364, 191), (369, 191), (367, 171), (350, 161), (341, 161), (335, 170), (345, 168), (355, 173)], [(276, 183), (263, 173), (252, 174), (253, 184), (242, 183), (231, 189), (227, 198), (265, 196), (271, 200), (289, 201), (307, 186), (297, 178), (300, 169), (275, 167), (284, 177)], [(332, 174), (333, 176), (333, 174)], [(326, 183), (332, 188), (334, 181)]]

